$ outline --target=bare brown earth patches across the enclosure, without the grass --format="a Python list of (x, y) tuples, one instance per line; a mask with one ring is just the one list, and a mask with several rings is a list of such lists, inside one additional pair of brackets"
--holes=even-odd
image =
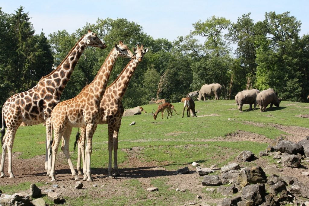
[[(254, 124), (259, 127), (266, 126), (265, 124), (255, 123), (250, 121), (245, 121), (245, 124)], [(288, 132), (291, 135), (284, 135), (285, 140), (298, 142), (299, 140), (303, 139), (309, 134), (309, 128), (302, 128), (302, 127), (294, 127), (294, 126), (282, 126), (277, 124), (270, 124), (270, 126), (276, 127), (279, 130), (284, 132)], [(168, 135), (177, 136), (181, 132), (173, 132)], [(245, 131), (238, 131), (233, 134), (228, 134), (226, 137), (218, 137), (216, 140), (205, 140), (205, 141), (255, 141), (255, 142), (267, 142), (270, 143), (271, 140), (266, 138), (263, 135), (255, 134), (252, 132), (245, 132)], [(148, 187), (152, 187), (153, 185), (150, 184), (151, 179), (153, 178), (160, 178), (164, 177), (167, 178), (167, 184), (170, 185), (171, 190), (175, 190), (176, 188), (179, 189), (186, 189), (194, 194), (200, 194), (202, 199), (195, 198), (190, 202), (197, 202), (199, 205), (201, 202), (206, 203), (218, 203), (221, 199), (212, 199), (207, 197), (205, 193), (202, 193), (202, 190), (205, 186), (201, 185), (202, 177), (200, 177), (195, 168), (192, 165), (188, 165), (190, 169), (189, 174), (184, 175), (175, 175), (175, 171), (168, 171), (159, 165), (156, 162), (141, 162), (136, 157), (136, 152), (142, 147), (136, 147), (131, 150), (125, 150), (129, 154), (129, 159), (127, 162), (119, 165), (119, 170), (121, 173), (120, 177), (117, 178), (108, 178), (107, 176), (107, 168), (93, 168), (91, 170), (92, 177), (94, 179), (93, 183), (88, 183), (83, 181), (83, 189), (77, 190), (74, 188), (74, 181), (73, 176), (71, 176), (70, 169), (68, 164), (64, 161), (65, 156), (62, 152), (59, 152), (57, 155), (57, 169), (56, 175), (58, 180), (59, 188), (53, 188), (55, 192), (60, 193), (63, 196), (69, 197), (79, 197), (84, 195), (87, 191), (87, 195), (92, 195), (94, 198), (99, 199), (109, 199), (112, 196), (120, 196), (125, 195), (129, 196), (131, 194), (131, 190), (128, 187), (122, 187), (125, 181), (127, 180), (138, 180), (141, 182), (141, 186), (143, 189), (146, 190)], [(265, 148), (266, 149), (266, 148)], [(13, 154), (13, 172), (15, 174), (16, 179), (9, 179), (1, 178), (0, 179), (0, 186), (1, 185), (13, 185), (19, 184), (23, 182), (48, 182), (48, 184), (41, 186), (42, 190), (44, 189), (51, 189), (52, 184), (50, 179), (46, 176), (46, 172), (44, 169), (45, 164), (45, 156), (37, 156), (32, 159), (18, 159), (20, 153)], [(264, 168), (265, 166), (269, 165), (266, 159), (258, 159), (255, 160), (254, 163)], [(164, 164), (164, 163), (163, 163)], [(168, 163), (166, 163), (168, 164)], [(202, 167), (209, 167), (210, 165), (205, 165)], [(282, 167), (280, 168), (279, 175), (286, 175), (286, 176), (293, 176), (298, 178), (298, 180), (302, 183), (305, 183), (309, 187), (309, 178), (303, 176), (301, 173), (304, 171), (309, 172), (307, 167), (303, 168), (290, 168), (290, 167)], [(7, 158), (6, 158), (6, 165), (5, 165), (5, 172), (7, 174)], [(80, 176), (82, 178), (82, 176)], [(97, 184), (98, 187), (93, 187), (93, 184)], [(65, 186), (65, 187), (61, 187)], [(29, 185), (30, 188), (30, 185)], [(18, 191), (16, 191), (18, 192)], [(153, 193), (149, 192), (148, 199), (156, 201), (155, 196)], [(189, 202), (184, 202), (183, 204), (188, 205)], [(129, 203), (129, 205), (133, 205), (133, 203)], [(183, 205), (181, 204), (181, 205)]]

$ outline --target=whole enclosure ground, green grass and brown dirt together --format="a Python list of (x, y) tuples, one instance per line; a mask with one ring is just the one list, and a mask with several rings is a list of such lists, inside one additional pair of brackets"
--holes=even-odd
[[(173, 105), (176, 111), (183, 108), (182, 103)], [(308, 120), (297, 117), (308, 113), (306, 107), (309, 104), (281, 102), (280, 106), (261, 113), (260, 110), (246, 111), (248, 105), (244, 105), (244, 112), (239, 113), (238, 110), (231, 110), (237, 108), (233, 100), (207, 100), (196, 102), (196, 109), (202, 117), (181, 118), (181, 115), (175, 113), (171, 119), (163, 120), (153, 120), (148, 113), (124, 117), (118, 149), (121, 176), (112, 179), (107, 175), (107, 128), (106, 125), (99, 125), (93, 138), (91, 156), (94, 182), (83, 181), (82, 190), (74, 189), (74, 177), (59, 149), (56, 161), (59, 188), (54, 190), (64, 196), (64, 205), (188, 205), (190, 202), (216, 205), (222, 195), (205, 191), (206, 187), (201, 185), (202, 177), (191, 163), (198, 162), (202, 167), (218, 164), (220, 167), (233, 162), (243, 150), (250, 150), (258, 156), (259, 151), (264, 151), (269, 142), (279, 135), (290, 141), (299, 141), (309, 135)], [(142, 107), (151, 111), (157, 105)], [(136, 124), (129, 126), (132, 121)], [(70, 151), (73, 151), (76, 132), (77, 128), (74, 128)], [(0, 179), (0, 189), (4, 193), (28, 192), (31, 183), (39, 184), (42, 189), (52, 188), (53, 184), (45, 176), (44, 170), (44, 138), (42, 125), (19, 128), (13, 147), (13, 172), (16, 179)], [(76, 166), (76, 152), (70, 155)], [(309, 185), (308, 178), (301, 175), (301, 172), (308, 171), (308, 165), (287, 168), (272, 158), (262, 157), (241, 166), (254, 165), (262, 168), (276, 165), (282, 170), (280, 175), (295, 176)], [(189, 167), (189, 174), (175, 175), (177, 169), (185, 166)], [(7, 174), (7, 162), (4, 171)], [(93, 187), (93, 184), (98, 186)], [(159, 191), (147, 192), (148, 187), (159, 187)], [(176, 191), (176, 188), (186, 191)], [(202, 199), (197, 199), (197, 195), (201, 195)], [(46, 196), (44, 199), (52, 205)]]

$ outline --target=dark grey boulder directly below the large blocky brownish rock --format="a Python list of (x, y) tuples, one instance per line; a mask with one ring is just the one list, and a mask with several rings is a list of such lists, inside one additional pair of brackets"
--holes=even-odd
[(265, 202), (265, 185), (253, 184), (243, 188), (243, 198), (246, 200), (253, 200), (256, 205)]

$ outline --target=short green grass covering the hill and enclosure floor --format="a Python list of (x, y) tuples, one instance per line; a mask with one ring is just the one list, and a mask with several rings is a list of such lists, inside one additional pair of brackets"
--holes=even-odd
[[(158, 115), (157, 120), (153, 119), (150, 111), (157, 108), (156, 104), (142, 105), (148, 112), (147, 114), (123, 117), (119, 131), (118, 164), (125, 166), (130, 155), (127, 151), (133, 150), (132, 152), (141, 162), (155, 162), (158, 166), (170, 171), (188, 166), (192, 162), (200, 162), (204, 166), (215, 163), (223, 166), (233, 161), (243, 150), (250, 150), (258, 155), (259, 151), (265, 150), (268, 144), (251, 141), (213, 141), (219, 137), (222, 140), (222, 137), (226, 137), (227, 134), (243, 130), (274, 139), (281, 134), (283, 136), (288, 134), (270, 124), (308, 127), (308, 120), (297, 117), (297, 115), (308, 114), (309, 103), (283, 101), (280, 107), (267, 109), (263, 113), (260, 110), (248, 111), (248, 105), (244, 105), (244, 112), (239, 113), (234, 100), (208, 100), (195, 103), (197, 115), (202, 117), (187, 118), (185, 115), (182, 118), (182, 103), (173, 103), (178, 115), (174, 112), (172, 118), (169, 119), (165, 119), (167, 114), (164, 115), (163, 120), (161, 114)], [(205, 116), (212, 114), (218, 116)], [(231, 120), (228, 120), (229, 118)], [(132, 121), (136, 124), (129, 126)], [(246, 124), (246, 121), (263, 123), (265, 126)], [(77, 130), (73, 128), (70, 151), (73, 151)], [(107, 125), (98, 125), (93, 137), (92, 168), (107, 168), (108, 166), (107, 137)], [(44, 141), (43, 125), (20, 127), (15, 137), (13, 152), (20, 152), (19, 158), (21, 159), (43, 155), (45, 154)], [(71, 157), (76, 166), (77, 153), (71, 153)], [(263, 158), (275, 163), (269, 157)], [(63, 161), (66, 162), (66, 160)], [(142, 187), (141, 182), (132, 179), (122, 183), (122, 186), (134, 191), (134, 195), (110, 196), (102, 200), (85, 194), (78, 198), (65, 197), (65, 199), (68, 205), (152, 205), (154, 201), (157, 205), (166, 205), (175, 199), (177, 199), (175, 204), (182, 204), (196, 195), (189, 191), (176, 192), (166, 182), (167, 179), (164, 177), (151, 179), (151, 184), (159, 187), (159, 191), (152, 193), (151, 197)], [(26, 190), (29, 185), (30, 183), (21, 183), (5, 186), (0, 182), (1, 190), (5, 193)], [(221, 198), (219, 194), (211, 195), (214, 198)], [(176, 198), (171, 200), (171, 197)]]

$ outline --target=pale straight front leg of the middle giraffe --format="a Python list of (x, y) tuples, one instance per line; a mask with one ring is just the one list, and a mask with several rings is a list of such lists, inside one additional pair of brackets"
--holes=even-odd
[[(85, 162), (87, 162), (87, 182), (93, 182), (91, 177), (91, 153), (92, 153), (92, 137), (93, 133), (95, 132), (97, 125), (96, 124), (87, 124), (86, 126), (86, 136), (87, 136), (87, 146), (86, 146), (86, 157)], [(85, 165), (86, 166), (86, 165)]]

